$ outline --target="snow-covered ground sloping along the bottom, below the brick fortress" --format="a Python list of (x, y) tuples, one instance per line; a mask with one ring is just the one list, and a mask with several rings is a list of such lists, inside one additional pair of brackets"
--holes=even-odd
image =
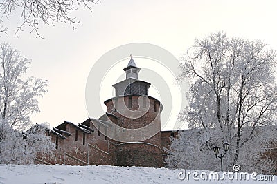
[[(277, 176), (274, 176), (274, 181), (258, 181), (259, 175), (256, 176), (257, 181), (251, 178), (249, 181), (231, 180), (227, 176), (224, 180), (205, 181), (202, 178), (211, 172), (194, 170), (186, 170), (186, 178), (181, 180), (179, 177), (184, 175), (179, 174), (180, 172), (184, 170), (109, 165), (0, 165), (0, 183), (277, 183)], [(194, 172), (199, 174), (198, 176), (195, 174), (195, 178), (199, 178), (199, 181), (193, 179)], [(222, 176), (223, 173), (218, 174)]]

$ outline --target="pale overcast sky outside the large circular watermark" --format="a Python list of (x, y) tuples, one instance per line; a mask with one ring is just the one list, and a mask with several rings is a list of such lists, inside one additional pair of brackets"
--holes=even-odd
[[(48, 94), (39, 101), (41, 113), (33, 121), (55, 127), (64, 120), (81, 123), (87, 119), (87, 76), (105, 52), (140, 42), (159, 45), (179, 57), (195, 38), (218, 31), (229, 37), (261, 39), (277, 50), (276, 7), (276, 1), (102, 0), (92, 14), (88, 10), (74, 14), (82, 21), (77, 30), (59, 23), (40, 28), (46, 39), (35, 38), (25, 28), (19, 38), (10, 32), (1, 41), (10, 42), (32, 59), (28, 74), (49, 81)], [(19, 23), (11, 18), (10, 29)], [(123, 70), (118, 72), (118, 76), (123, 74)], [(111, 97), (112, 87), (107, 90)]]

